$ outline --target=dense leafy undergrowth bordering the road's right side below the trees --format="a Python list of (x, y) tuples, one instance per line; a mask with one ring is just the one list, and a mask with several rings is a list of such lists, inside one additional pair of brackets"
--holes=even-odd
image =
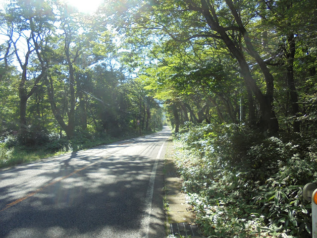
[(174, 140), (176, 164), (204, 236), (311, 236), (302, 188), (317, 181), (317, 142), (295, 141), (236, 124), (185, 125)]

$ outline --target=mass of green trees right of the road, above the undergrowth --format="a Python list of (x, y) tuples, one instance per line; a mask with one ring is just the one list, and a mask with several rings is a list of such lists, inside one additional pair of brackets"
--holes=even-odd
[(305, 104), (316, 93), (315, 1), (110, 2), (117, 31), (150, 60), (144, 74), (176, 131), (190, 114), (300, 132), (313, 113)]

